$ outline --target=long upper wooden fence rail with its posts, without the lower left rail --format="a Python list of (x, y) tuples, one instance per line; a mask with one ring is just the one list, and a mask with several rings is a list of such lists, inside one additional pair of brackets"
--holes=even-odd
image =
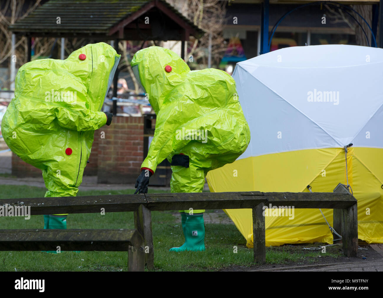
[[(6, 203), (13, 206), (31, 206), (31, 215), (98, 213), (101, 208), (105, 208), (105, 212), (133, 211), (135, 228), (143, 238), (143, 249), (147, 251), (145, 253), (145, 263), (149, 270), (154, 269), (151, 211), (188, 210), (190, 208), (195, 210), (252, 209), (254, 261), (264, 264), (266, 262), (265, 217), (262, 213), (265, 204), (294, 206), (294, 208), (331, 208), (334, 209), (334, 228), (342, 235), (345, 255), (356, 256), (358, 249), (357, 200), (340, 183), (334, 189), (334, 193), (261, 193), (259, 191), (250, 191), (120, 194), (0, 200), (0, 204)], [(2, 243), (2, 239), (0, 239), (0, 243)]]

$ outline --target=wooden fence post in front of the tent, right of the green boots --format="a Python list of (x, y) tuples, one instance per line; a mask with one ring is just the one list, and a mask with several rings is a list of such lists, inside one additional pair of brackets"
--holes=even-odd
[(260, 203), (253, 208), (254, 262), (258, 264), (266, 263), (265, 217), (263, 215), (264, 206), (264, 203)]

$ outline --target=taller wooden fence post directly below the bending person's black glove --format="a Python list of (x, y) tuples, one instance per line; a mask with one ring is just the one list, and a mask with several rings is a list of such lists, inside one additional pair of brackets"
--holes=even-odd
[(134, 227), (144, 238), (145, 264), (148, 270), (154, 270), (154, 246), (152, 233), (152, 214), (144, 205), (134, 211)]

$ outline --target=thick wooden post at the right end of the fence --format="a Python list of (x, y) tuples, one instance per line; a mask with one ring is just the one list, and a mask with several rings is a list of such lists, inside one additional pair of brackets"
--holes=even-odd
[[(334, 193), (349, 193), (344, 184), (339, 183), (334, 189)], [(336, 210), (338, 210), (336, 212)], [(347, 257), (355, 257), (358, 252), (358, 204), (346, 209), (334, 209), (334, 229), (342, 235), (343, 252)]]

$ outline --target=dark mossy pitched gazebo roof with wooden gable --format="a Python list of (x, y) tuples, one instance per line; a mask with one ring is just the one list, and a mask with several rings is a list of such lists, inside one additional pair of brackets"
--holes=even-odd
[(15, 34), (188, 40), (204, 31), (164, 0), (51, 0), (8, 28)]

